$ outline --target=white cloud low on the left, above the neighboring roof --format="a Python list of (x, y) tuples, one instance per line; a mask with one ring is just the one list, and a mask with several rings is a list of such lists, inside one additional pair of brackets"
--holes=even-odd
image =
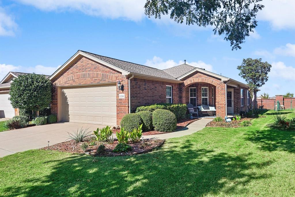
[(2, 80), (8, 72), (25, 72), (33, 73), (40, 75), (52, 75), (52, 73), (60, 67), (51, 67), (51, 66), (42, 66), (37, 65), (35, 67), (24, 67), (24, 66), (14, 66), (11, 64), (0, 64), (0, 80)]

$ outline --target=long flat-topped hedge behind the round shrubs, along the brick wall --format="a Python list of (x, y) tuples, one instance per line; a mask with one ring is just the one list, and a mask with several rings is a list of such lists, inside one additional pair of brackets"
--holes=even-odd
[(153, 112), (156, 109), (166, 109), (172, 112), (177, 120), (186, 117), (187, 106), (186, 104), (170, 104), (170, 103), (158, 103), (154, 105), (137, 107), (136, 112), (149, 111)]

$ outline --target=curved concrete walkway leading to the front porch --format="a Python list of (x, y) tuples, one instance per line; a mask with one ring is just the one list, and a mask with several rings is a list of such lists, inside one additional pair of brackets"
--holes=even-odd
[(172, 133), (165, 133), (165, 134), (158, 134), (158, 135), (142, 135), (144, 139), (147, 138), (156, 138), (156, 139), (168, 139), (168, 138), (178, 138), (185, 135), (190, 135), (192, 133), (196, 133), (197, 131), (203, 129), (206, 127), (206, 125), (211, 122), (213, 119), (206, 119), (202, 118), (201, 120), (197, 120), (191, 124), (189, 124), (187, 127), (184, 127), (183, 129), (172, 132)]

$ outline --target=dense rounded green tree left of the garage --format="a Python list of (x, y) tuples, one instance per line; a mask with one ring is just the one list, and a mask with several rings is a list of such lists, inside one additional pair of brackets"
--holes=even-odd
[(9, 100), (12, 107), (37, 111), (39, 116), (39, 111), (51, 102), (51, 88), (52, 84), (45, 75), (19, 75), (10, 85)]

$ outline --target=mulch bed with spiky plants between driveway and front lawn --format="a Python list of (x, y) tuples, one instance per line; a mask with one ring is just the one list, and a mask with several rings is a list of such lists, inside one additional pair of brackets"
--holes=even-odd
[[(142, 141), (136, 143), (128, 143), (132, 146), (132, 150), (124, 153), (113, 153), (112, 150), (117, 146), (118, 141), (114, 141), (114, 143), (106, 143), (106, 142), (95, 142), (94, 146), (90, 146), (90, 142), (93, 138), (87, 138), (83, 142), (76, 143), (74, 140), (62, 142), (59, 144), (55, 144), (49, 147), (41, 148), (43, 150), (54, 150), (68, 153), (78, 153), (84, 154), (85, 152), (82, 150), (82, 143), (88, 143), (89, 147), (87, 148), (86, 154), (95, 155), (95, 156), (125, 156), (125, 155), (135, 155), (142, 154), (152, 151), (154, 148), (158, 148), (163, 145), (164, 140), (153, 140), (153, 139), (145, 139), (142, 144)], [(97, 154), (96, 150), (99, 145), (104, 144), (105, 153)]]

